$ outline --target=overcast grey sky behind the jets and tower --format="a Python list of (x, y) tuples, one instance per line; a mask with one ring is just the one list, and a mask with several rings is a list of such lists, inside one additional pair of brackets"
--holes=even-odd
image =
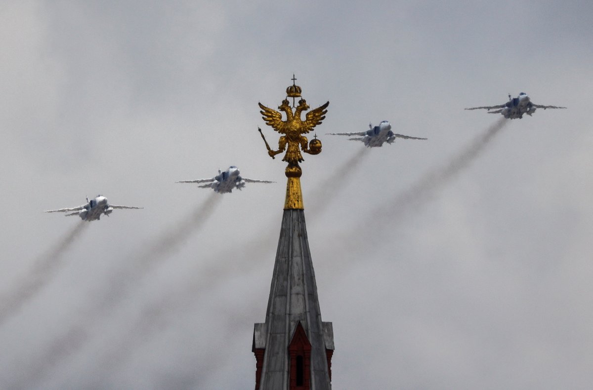
[[(43, 210), (145, 207), (91, 222), (5, 315), (0, 387), (253, 388), (286, 185), (257, 103), (295, 73), (330, 101), (301, 183), (333, 388), (589, 389), (591, 20), (585, 0), (0, 2), (0, 297), (79, 224)], [(519, 92), (568, 110), (398, 203), (500, 118), (464, 107)], [(325, 135), (381, 120), (429, 139)], [(278, 183), (175, 183), (229, 165)]]

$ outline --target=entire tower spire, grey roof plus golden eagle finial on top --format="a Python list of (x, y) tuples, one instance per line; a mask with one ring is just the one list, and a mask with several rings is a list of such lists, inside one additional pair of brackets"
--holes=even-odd
[[(294, 81), (293, 75), (293, 85), (286, 89), (287, 97), (297, 92), (298, 97), (301, 95), (301, 88)], [(278, 111), (259, 104), (266, 123), (283, 134), (278, 151), (273, 151), (266, 142), (268, 154), (274, 158), (288, 146), (282, 159), (288, 166), (285, 170), (286, 199), (266, 322), (255, 324), (253, 331), (251, 349), (256, 356), (256, 390), (331, 389), (333, 327), (331, 322), (321, 321), (299, 167), (299, 162), (303, 161), (301, 148), (308, 154), (321, 152), (320, 140), (315, 137), (307, 144), (307, 138), (301, 134), (321, 123), (328, 105), (329, 102), (310, 111), (303, 122), (301, 111), (308, 110), (309, 106), (302, 98), (294, 112), (288, 99), (278, 107), (285, 111), (286, 121), (282, 121)]]

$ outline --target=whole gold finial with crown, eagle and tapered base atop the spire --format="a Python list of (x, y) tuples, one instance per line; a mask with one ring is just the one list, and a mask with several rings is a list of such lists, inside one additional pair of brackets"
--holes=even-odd
[[(286, 95), (287, 97), (293, 98), (293, 107), (294, 107), (294, 98), (301, 97), (301, 87), (295, 85), (295, 78), (294, 74), (292, 75), (292, 85), (286, 88)], [(302, 111), (307, 111), (309, 106), (307, 101), (303, 98), (298, 101), (298, 106), (295, 107), (295, 110), (292, 111), (291, 106), (289, 106), (288, 99), (282, 101), (282, 104), (278, 106), (278, 110), (284, 111), (286, 114), (286, 120), (282, 120), (282, 113), (279, 111), (273, 110), (272, 108), (268, 108), (264, 106), (262, 103), (259, 103), (260, 108), (262, 111), (262, 118), (266, 121), (268, 126), (272, 126), (272, 129), (276, 130), (283, 136), (280, 137), (278, 140), (278, 150), (273, 151), (272, 148), (266, 142), (266, 138), (264, 138), (262, 129), (259, 129), (260, 134), (264, 142), (266, 142), (267, 154), (269, 154), (272, 158), (275, 158), (277, 154), (280, 154), (286, 150), (286, 154), (282, 161), (288, 162), (288, 167), (286, 167), (285, 174), (288, 178), (288, 183), (286, 183), (286, 201), (284, 203), (284, 209), (304, 209), (302, 204), (302, 191), (301, 191), (301, 167), (299, 166), (299, 162), (304, 161), (301, 154), (301, 149), (303, 152), (308, 154), (320, 154), (321, 153), (321, 140), (317, 139), (317, 135), (315, 135), (314, 139), (311, 140), (310, 143), (307, 143), (307, 137), (302, 136), (302, 134), (306, 134), (313, 130), (315, 126), (321, 124), (321, 122), (326, 118), (325, 114), (327, 113), (327, 106), (329, 106), (330, 102), (328, 101), (323, 106), (317, 107), (314, 110), (311, 110), (305, 116), (305, 120), (301, 120), (301, 113)], [(286, 146), (288, 145), (288, 149)]]

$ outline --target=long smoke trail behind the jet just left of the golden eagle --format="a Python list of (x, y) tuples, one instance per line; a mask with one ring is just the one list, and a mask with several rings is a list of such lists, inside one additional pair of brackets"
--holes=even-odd
[(157, 238), (151, 239), (151, 245), (133, 256), (132, 261), (126, 263), (127, 268), (117, 270), (117, 273), (113, 274), (111, 280), (107, 282), (104, 295), (95, 298), (94, 303), (87, 305), (88, 311), (84, 319), (73, 324), (65, 334), (56, 338), (46, 351), (39, 354), (39, 359), (29, 362), (28, 374), (25, 377), (13, 379), (13, 381), (22, 380), (23, 383), (4, 383), (4, 385), (15, 388), (33, 387), (62, 360), (84, 348), (94, 336), (89, 330), (96, 328), (98, 323), (109, 317), (107, 314), (117, 303), (126, 298), (134, 282), (139, 282), (152, 267), (167, 258), (167, 255), (202, 228), (215, 212), (216, 205), (221, 202), (221, 199), (221, 194), (212, 193), (206, 202), (199, 204), (186, 218), (171, 225)]

